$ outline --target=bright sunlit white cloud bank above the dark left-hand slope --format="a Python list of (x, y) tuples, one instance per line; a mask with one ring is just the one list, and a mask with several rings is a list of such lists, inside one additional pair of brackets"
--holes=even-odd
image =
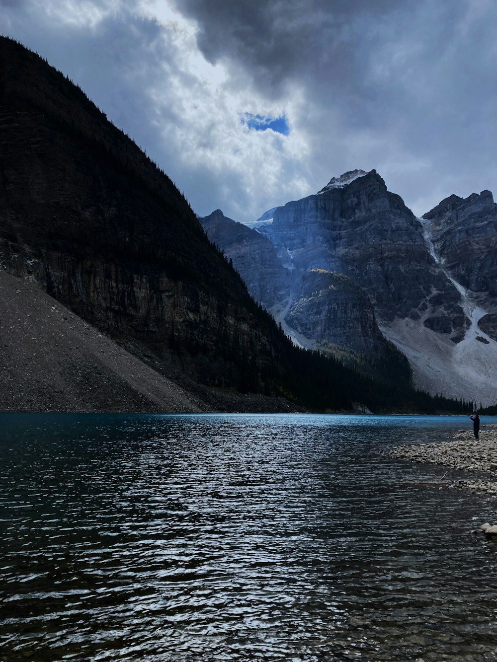
[[(1, 0), (0, 0), (1, 2)], [(82, 8), (84, 11), (82, 11)], [(197, 26), (154, 0), (20, 0), (9, 33), (69, 75), (184, 191), (200, 215), (253, 220), (309, 190), (297, 88), (274, 103), (243, 70), (208, 62)], [(255, 130), (256, 107), (271, 130)]]

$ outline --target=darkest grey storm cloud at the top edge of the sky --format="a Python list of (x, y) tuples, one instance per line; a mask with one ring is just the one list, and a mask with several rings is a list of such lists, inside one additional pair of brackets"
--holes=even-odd
[[(260, 85), (279, 89), (289, 78), (345, 85), (360, 75), (364, 39), (398, 0), (175, 0), (198, 26), (197, 44), (209, 62), (235, 61)], [(371, 30), (370, 30), (371, 28)], [(370, 33), (370, 34), (369, 34)]]

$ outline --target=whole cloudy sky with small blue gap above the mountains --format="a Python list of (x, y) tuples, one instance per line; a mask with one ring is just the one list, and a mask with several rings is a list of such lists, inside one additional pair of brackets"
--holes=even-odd
[(204, 216), (376, 168), (422, 214), (497, 194), (494, 0), (0, 0)]

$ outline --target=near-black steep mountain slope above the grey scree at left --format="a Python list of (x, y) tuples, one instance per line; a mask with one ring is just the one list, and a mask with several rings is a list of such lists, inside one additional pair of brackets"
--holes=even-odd
[(80, 89), (5, 38), (0, 142), (4, 269), (203, 383), (237, 385), (247, 362), (272, 366), (278, 330), (170, 179)]

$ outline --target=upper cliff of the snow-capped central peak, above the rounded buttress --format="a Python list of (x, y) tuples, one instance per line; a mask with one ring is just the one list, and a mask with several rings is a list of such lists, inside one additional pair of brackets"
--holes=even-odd
[(433, 285), (457, 304), (457, 291), (433, 264), (414, 214), (375, 170), (355, 172), (349, 183), (333, 185), (333, 178), (317, 195), (274, 211), (265, 234), (282, 261), (301, 273), (313, 267), (349, 276), (382, 321), (430, 305)]

